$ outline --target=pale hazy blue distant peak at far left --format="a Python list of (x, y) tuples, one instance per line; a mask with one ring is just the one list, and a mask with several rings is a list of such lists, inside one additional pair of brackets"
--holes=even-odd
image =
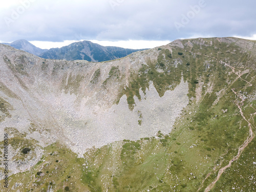
[(33, 55), (37, 55), (37, 56), (39, 56), (40, 54), (47, 51), (47, 49), (40, 49), (38, 47), (35, 47), (29, 41), (24, 40), (24, 39), (15, 40), (11, 43), (2, 42), (2, 44), (14, 47), (15, 49), (19, 49), (19, 50), (22, 50), (22, 51), (32, 53)]

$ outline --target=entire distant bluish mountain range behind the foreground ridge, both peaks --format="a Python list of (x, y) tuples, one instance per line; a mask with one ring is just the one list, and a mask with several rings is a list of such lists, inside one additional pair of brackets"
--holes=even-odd
[(20, 39), (12, 43), (2, 43), (16, 49), (27, 51), (41, 58), (65, 59), (65, 60), (88, 60), (101, 62), (106, 60), (118, 59), (125, 57), (136, 51), (145, 49), (125, 49), (114, 46), (101, 46), (91, 41), (84, 40), (74, 42), (61, 48), (40, 49), (32, 45), (29, 41)]

